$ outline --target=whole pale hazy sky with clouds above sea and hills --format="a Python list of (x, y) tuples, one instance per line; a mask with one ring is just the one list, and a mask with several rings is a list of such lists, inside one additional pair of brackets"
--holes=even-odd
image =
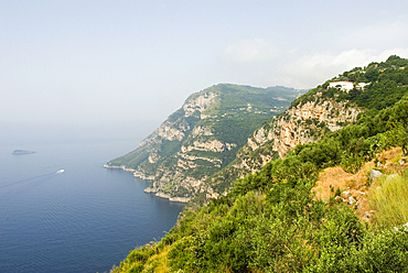
[(130, 135), (215, 84), (312, 88), (391, 54), (407, 0), (0, 0), (0, 132)]

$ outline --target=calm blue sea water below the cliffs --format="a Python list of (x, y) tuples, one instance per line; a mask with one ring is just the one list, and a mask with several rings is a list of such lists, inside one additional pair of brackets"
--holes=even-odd
[[(103, 167), (135, 144), (2, 144), (0, 272), (109, 272), (130, 250), (162, 238), (183, 205), (143, 193), (149, 182), (131, 173)], [(11, 154), (17, 149), (35, 153)]]

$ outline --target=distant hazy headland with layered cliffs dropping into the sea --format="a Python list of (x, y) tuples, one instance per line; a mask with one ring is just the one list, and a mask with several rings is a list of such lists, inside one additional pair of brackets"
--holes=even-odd
[(206, 188), (211, 175), (235, 159), (247, 135), (299, 95), (283, 87), (210, 87), (190, 96), (137, 150), (105, 166), (152, 179), (147, 193), (189, 201)]

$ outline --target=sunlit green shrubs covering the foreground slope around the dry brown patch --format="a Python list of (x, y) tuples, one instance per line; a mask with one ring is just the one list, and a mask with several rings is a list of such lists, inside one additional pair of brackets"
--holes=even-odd
[(408, 94), (236, 181), (229, 194), (185, 211), (160, 242), (131, 251), (114, 272), (408, 272), (408, 228), (400, 226), (408, 171), (379, 182), (375, 226), (311, 190), (325, 167), (355, 172), (379, 152), (406, 145), (406, 128)]

